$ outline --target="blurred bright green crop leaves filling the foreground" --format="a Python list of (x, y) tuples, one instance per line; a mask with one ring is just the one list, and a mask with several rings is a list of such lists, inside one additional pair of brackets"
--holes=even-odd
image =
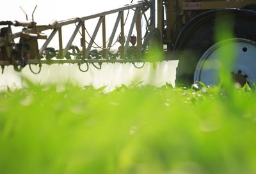
[(255, 173), (256, 94), (220, 87), (1, 92), (0, 173)]

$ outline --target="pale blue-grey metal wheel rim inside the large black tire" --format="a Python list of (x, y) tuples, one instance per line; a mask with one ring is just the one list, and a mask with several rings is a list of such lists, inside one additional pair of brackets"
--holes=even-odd
[(220, 41), (210, 47), (198, 61), (194, 82), (205, 85), (218, 85), (220, 82), (220, 51), (233, 48), (234, 62), (230, 74), (235, 82), (243, 86), (246, 82), (252, 86), (256, 83), (256, 43), (251, 40), (233, 38)]

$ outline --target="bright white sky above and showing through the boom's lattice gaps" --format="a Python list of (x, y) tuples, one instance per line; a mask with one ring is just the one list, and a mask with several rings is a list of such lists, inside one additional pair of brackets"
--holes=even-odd
[[(137, 0), (134, 0), (136, 3)], [(107, 10), (113, 10), (115, 8), (120, 8), (125, 4), (130, 4), (131, 0), (9, 0), (4, 3), (0, 10), (0, 21), (3, 20), (26, 20), (26, 15), (20, 9), (20, 6), (26, 11), (28, 14), (29, 20), (32, 18), (32, 13), (37, 5), (37, 8), (34, 13), (34, 20), (39, 25), (48, 25), (52, 22), (52, 20), (67, 20), (69, 18), (75, 17), (85, 17), (88, 15), (93, 15), (95, 13), (100, 13)], [(133, 11), (132, 11), (133, 12)], [(132, 12), (129, 14), (129, 18), (127, 21), (127, 25), (125, 25), (126, 33), (129, 30), (129, 19), (132, 17)], [(127, 11), (126, 11), (127, 13)], [(125, 13), (125, 15), (126, 15)], [(107, 40), (113, 30), (113, 25), (115, 24), (116, 15), (108, 15), (106, 18), (106, 34)], [(131, 21), (131, 20), (130, 20)], [(97, 20), (90, 20), (86, 22), (86, 29), (92, 35), (95, 25), (97, 24)], [(68, 25), (67, 28), (63, 28), (63, 45), (65, 46), (74, 31), (76, 25)], [(145, 28), (145, 26), (143, 26)], [(15, 31), (13, 29), (13, 33), (19, 32), (20, 28)], [(118, 31), (119, 32), (119, 31)], [(116, 33), (118, 36), (118, 32)], [(51, 31), (43, 32), (47, 36), (51, 33)], [(136, 34), (136, 31), (134, 30)], [(133, 34), (134, 34), (133, 33)], [(117, 36), (115, 38), (117, 38)], [(74, 40), (73, 44), (79, 46), (80, 38)], [(88, 40), (88, 39), (87, 39)], [(97, 34), (95, 39), (98, 45), (102, 45), (101, 33)], [(88, 40), (89, 41), (89, 40)], [(39, 41), (39, 45), (42, 45)], [(49, 47), (58, 47), (58, 40), (52, 40), (49, 44)], [(118, 45), (116, 46), (116, 48)]]

